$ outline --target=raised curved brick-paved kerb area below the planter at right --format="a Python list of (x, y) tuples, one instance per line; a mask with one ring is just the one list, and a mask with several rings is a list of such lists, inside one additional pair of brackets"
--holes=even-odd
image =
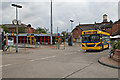
[(98, 62), (100, 64), (105, 65), (105, 66), (109, 66), (109, 67), (112, 67), (112, 68), (120, 69), (120, 62), (115, 61), (114, 59), (112, 59), (112, 58), (110, 58), (108, 56), (99, 58)]

